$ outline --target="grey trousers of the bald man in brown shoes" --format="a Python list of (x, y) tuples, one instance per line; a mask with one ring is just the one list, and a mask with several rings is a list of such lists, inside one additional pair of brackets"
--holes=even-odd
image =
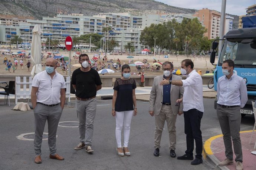
[(56, 133), (62, 113), (60, 105), (56, 106), (45, 106), (37, 103), (34, 109), (35, 115), (35, 139), (34, 148), (36, 156), (41, 155), (41, 146), (43, 131), (45, 129), (45, 123), (48, 123), (48, 145), (50, 154), (55, 155), (56, 153)]

